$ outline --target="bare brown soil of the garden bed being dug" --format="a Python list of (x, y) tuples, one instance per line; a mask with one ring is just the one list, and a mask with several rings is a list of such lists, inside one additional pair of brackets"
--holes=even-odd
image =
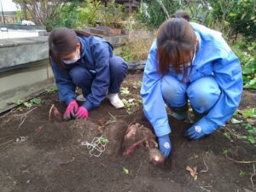
[[(129, 87), (132, 94), (122, 97), (137, 99), (137, 82), (141, 80), (142, 74), (128, 75), (123, 86)], [(223, 131), (190, 142), (183, 137), (183, 131), (191, 124), (170, 118), (172, 156), (164, 165), (154, 166), (143, 147), (134, 154), (122, 155), (122, 139), (128, 125), (137, 122), (151, 128), (141, 106), (129, 115), (125, 109), (114, 109), (104, 101), (87, 120), (49, 122), (52, 103), (61, 113), (65, 108), (56, 93), (40, 97), (41, 105), (27, 114), (20, 128), (17, 114), (29, 109), (15, 110), (0, 119), (1, 192), (252, 191), (253, 164), (229, 160), (223, 150), (227, 149), (234, 160), (256, 160), (255, 147), (236, 139), (231, 143)], [(255, 107), (255, 98), (255, 92), (245, 91), (241, 107)], [(101, 122), (113, 119), (112, 116), (116, 122), (101, 127)], [(89, 149), (81, 142), (91, 142), (101, 135), (109, 140), (106, 151), (100, 157), (90, 157)], [(27, 140), (17, 141), (20, 137)], [(186, 166), (197, 166), (197, 180), (186, 171)], [(124, 167), (129, 174), (125, 174)], [(246, 175), (240, 176), (241, 171)]]

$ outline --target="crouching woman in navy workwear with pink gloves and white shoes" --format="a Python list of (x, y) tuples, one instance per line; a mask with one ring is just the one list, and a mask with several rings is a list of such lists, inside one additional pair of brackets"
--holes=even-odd
[[(60, 100), (67, 105), (64, 119), (88, 118), (106, 96), (113, 107), (124, 107), (118, 93), (128, 67), (121, 57), (113, 55), (107, 41), (86, 32), (56, 28), (49, 34), (49, 61)], [(76, 87), (82, 89), (85, 98), (80, 107)]]

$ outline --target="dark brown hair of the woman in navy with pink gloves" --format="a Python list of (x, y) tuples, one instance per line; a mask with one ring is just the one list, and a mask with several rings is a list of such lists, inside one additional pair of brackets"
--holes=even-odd
[(79, 43), (78, 36), (91, 36), (88, 32), (69, 29), (67, 27), (55, 28), (49, 34), (49, 62), (55, 61), (55, 64), (61, 67), (60, 55), (67, 55), (76, 50)]

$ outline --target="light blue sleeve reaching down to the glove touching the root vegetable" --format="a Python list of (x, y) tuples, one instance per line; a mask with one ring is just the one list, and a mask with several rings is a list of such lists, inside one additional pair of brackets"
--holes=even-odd
[(161, 77), (157, 71), (157, 63), (156, 50), (150, 49), (143, 74), (141, 96), (143, 97), (143, 111), (153, 125), (156, 136), (160, 137), (169, 134), (171, 128), (161, 94)]

